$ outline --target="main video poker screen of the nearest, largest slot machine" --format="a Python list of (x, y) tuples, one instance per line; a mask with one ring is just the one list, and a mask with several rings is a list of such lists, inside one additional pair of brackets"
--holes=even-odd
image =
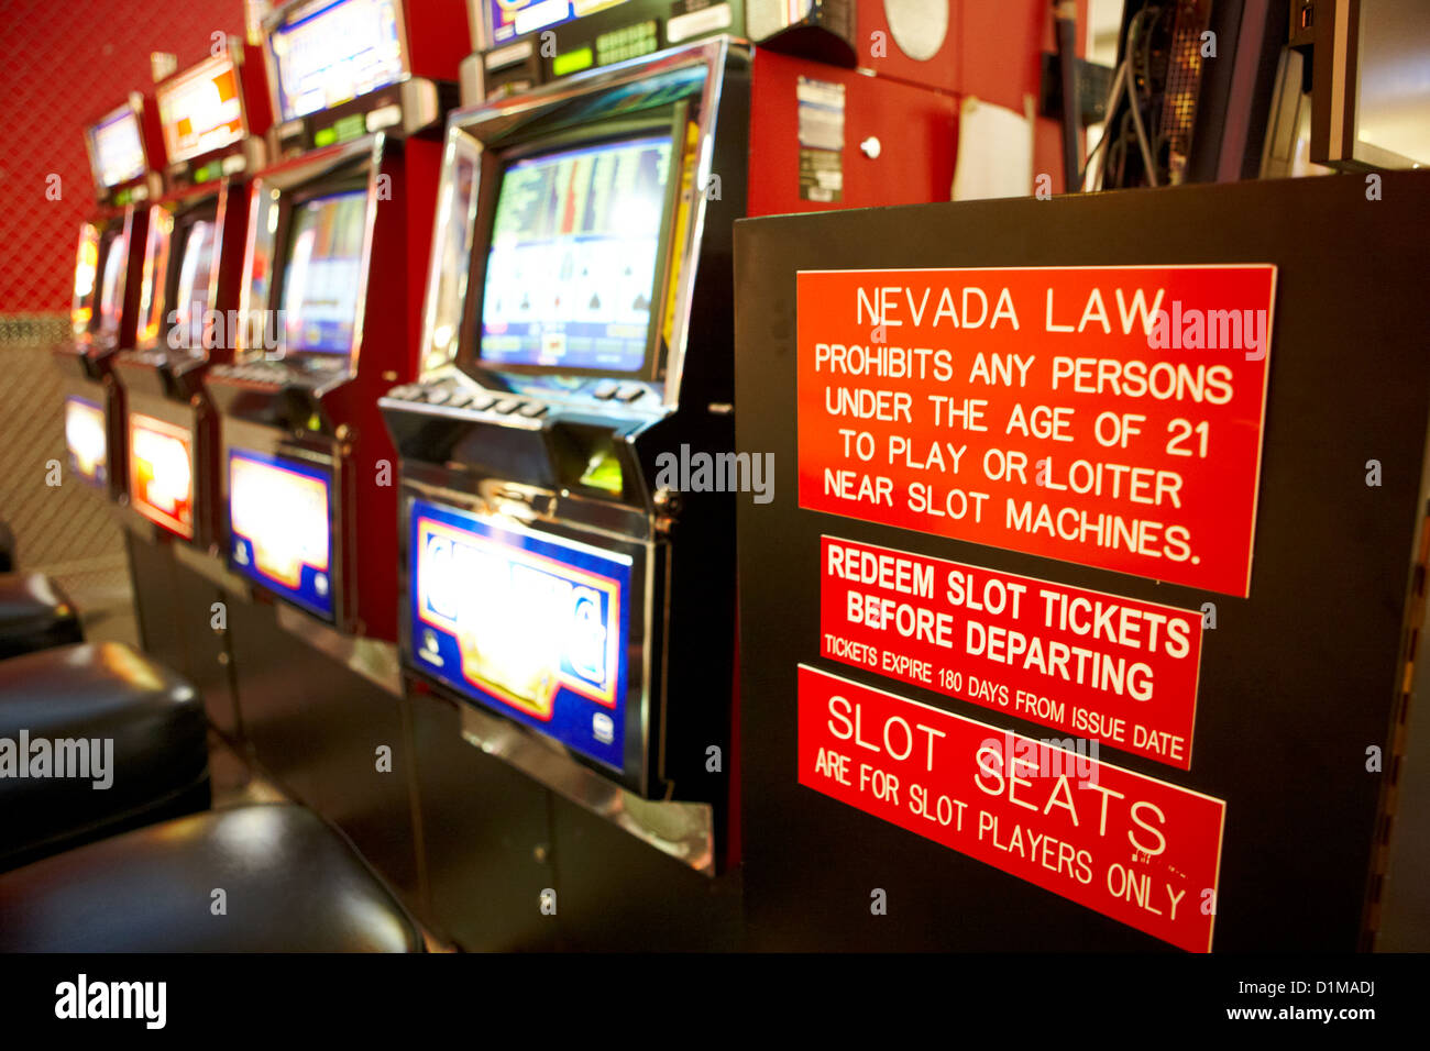
[(633, 372), (651, 330), (671, 142), (519, 160), (496, 200), (482, 360)]

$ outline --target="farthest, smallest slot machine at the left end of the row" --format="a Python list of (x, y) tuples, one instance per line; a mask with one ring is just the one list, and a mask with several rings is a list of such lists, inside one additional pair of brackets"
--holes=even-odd
[(107, 496), (124, 488), (124, 392), (114, 356), (133, 345), (149, 212), (163, 147), (153, 102), (139, 92), (84, 129), (94, 214), (80, 224), (70, 339), (53, 347), (64, 373), (64, 445), (70, 470)]

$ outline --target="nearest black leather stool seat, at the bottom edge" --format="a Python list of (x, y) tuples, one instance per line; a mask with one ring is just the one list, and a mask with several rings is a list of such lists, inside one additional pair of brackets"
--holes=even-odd
[(0, 877), (0, 952), (420, 951), (347, 839), (293, 804), (179, 818)]

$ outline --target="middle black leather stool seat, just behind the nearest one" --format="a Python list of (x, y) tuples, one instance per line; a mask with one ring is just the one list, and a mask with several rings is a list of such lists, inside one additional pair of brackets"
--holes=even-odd
[(187, 681), (119, 642), (0, 661), (0, 869), (207, 806)]

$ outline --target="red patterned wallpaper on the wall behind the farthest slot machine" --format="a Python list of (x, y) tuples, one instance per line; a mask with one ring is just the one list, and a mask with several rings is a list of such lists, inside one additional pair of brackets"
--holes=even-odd
[(214, 31), (243, 31), (243, 0), (0, 0), (0, 315), (69, 309), (94, 206), (84, 123), (152, 89), (150, 51), (183, 69)]

